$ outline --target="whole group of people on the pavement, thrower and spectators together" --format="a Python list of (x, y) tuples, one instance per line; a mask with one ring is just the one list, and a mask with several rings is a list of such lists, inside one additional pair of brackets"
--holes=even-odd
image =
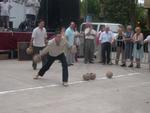
[[(84, 63), (94, 63), (95, 41), (99, 50), (100, 63), (103, 65), (111, 65), (112, 46), (116, 47), (115, 64), (118, 65), (121, 57), (121, 66), (127, 66), (127, 60), (130, 59), (130, 65), (136, 68), (141, 67), (141, 60), (144, 56), (143, 46), (148, 43), (148, 58), (150, 67), (150, 36), (144, 40), (143, 33), (140, 27), (133, 31), (130, 25), (126, 30), (119, 26), (118, 33), (115, 36), (109, 26), (101, 26), (100, 31), (93, 29), (91, 23), (87, 23), (83, 33), (77, 31), (75, 22), (71, 22), (70, 26), (65, 29), (61, 28), (60, 33), (56, 34), (53, 39), (47, 40), (47, 32), (44, 27), (45, 22), (40, 20), (38, 27), (33, 30), (30, 46), (33, 47), (33, 55), (38, 54), (42, 59), (42, 68), (34, 79), (43, 77), (45, 72), (50, 68), (55, 60), (60, 60), (62, 63), (63, 85), (67, 86), (68, 82), (68, 66), (78, 62), (80, 51), (80, 39), (84, 38)], [(37, 67), (33, 60), (33, 69)]]

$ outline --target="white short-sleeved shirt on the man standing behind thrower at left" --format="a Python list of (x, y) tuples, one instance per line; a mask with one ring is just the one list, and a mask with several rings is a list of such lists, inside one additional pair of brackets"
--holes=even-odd
[(32, 32), (33, 46), (35, 47), (44, 47), (45, 46), (45, 38), (47, 38), (46, 29), (40, 29), (36, 27)]

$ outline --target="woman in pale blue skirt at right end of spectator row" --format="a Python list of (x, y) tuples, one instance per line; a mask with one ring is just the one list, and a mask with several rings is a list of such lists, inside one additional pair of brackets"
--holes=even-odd
[(136, 60), (136, 68), (140, 68), (140, 62), (141, 59), (144, 56), (144, 51), (143, 51), (143, 33), (141, 33), (141, 28), (136, 27), (135, 29), (135, 34), (133, 36), (133, 42), (134, 42), (134, 47), (133, 47), (133, 57)]

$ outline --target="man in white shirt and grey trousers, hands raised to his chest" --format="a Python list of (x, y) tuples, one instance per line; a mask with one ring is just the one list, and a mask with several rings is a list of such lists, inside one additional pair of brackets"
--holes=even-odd
[(93, 57), (94, 57), (94, 41), (96, 38), (96, 31), (92, 28), (92, 25), (90, 23), (86, 24), (86, 29), (84, 31), (85, 34), (85, 55), (84, 55), (84, 63), (93, 63)]

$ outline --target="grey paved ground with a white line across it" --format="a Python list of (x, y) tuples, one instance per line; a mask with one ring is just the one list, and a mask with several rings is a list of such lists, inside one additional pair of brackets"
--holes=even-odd
[[(41, 65), (39, 65), (40, 68)], [(0, 61), (0, 113), (150, 113), (150, 72), (142, 69), (76, 63), (69, 67), (69, 87), (61, 85), (57, 61), (44, 78), (30, 61)], [(107, 70), (113, 79), (105, 78)], [(97, 74), (84, 82), (82, 75)]]

